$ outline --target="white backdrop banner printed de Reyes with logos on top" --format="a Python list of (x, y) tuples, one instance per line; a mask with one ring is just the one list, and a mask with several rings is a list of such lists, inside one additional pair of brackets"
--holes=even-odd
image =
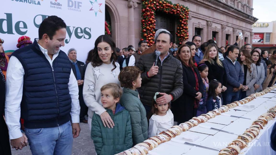
[(60, 49), (67, 54), (75, 48), (77, 59), (85, 62), (95, 40), (105, 32), (105, 0), (1, 0), (0, 38), (6, 55), (17, 49), (20, 36), (38, 38), (39, 25), (51, 15), (67, 25), (65, 46)]

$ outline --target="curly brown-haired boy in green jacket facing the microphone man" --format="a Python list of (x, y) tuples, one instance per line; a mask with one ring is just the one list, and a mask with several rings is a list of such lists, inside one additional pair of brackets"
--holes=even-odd
[(136, 91), (141, 87), (141, 71), (136, 66), (127, 66), (121, 70), (118, 78), (121, 87), (124, 87), (120, 103), (129, 111), (133, 145), (136, 145), (148, 138), (147, 113)]

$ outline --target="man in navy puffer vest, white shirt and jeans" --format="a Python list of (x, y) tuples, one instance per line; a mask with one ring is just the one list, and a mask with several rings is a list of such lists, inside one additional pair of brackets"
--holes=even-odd
[(44, 19), (39, 39), (16, 50), (7, 68), (6, 123), (10, 145), (22, 149), (20, 113), (33, 155), (71, 154), (78, 137), (78, 83), (64, 46), (66, 24), (57, 16)]

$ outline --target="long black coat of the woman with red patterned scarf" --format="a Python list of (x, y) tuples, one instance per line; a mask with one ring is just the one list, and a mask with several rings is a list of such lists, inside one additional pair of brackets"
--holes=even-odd
[(203, 94), (204, 91), (204, 84), (198, 69), (194, 68), (194, 71), (197, 73), (199, 84), (199, 91), (196, 91), (195, 74), (193, 73), (192, 68), (186, 65), (182, 65), (182, 68), (184, 85), (183, 94), (172, 103), (171, 107), (172, 113), (174, 115), (174, 121), (181, 123), (186, 122), (194, 117), (193, 107), (194, 101), (196, 100), (195, 97), (197, 96), (196, 93), (201, 92), (201, 94)]

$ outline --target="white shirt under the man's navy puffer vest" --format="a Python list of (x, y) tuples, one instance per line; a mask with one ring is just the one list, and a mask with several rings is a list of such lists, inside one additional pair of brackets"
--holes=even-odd
[[(37, 39), (38, 41), (38, 39)], [(39, 44), (38, 44), (39, 45)], [(52, 66), (52, 62), (59, 55), (59, 51), (53, 55), (51, 58), (48, 55), (47, 49), (44, 49), (39, 45), (41, 52), (45, 55), (47, 60)], [(20, 61), (15, 57), (11, 56), (7, 68), (7, 81), (6, 81), (6, 102), (5, 102), (5, 117), (6, 123), (9, 129), (10, 139), (16, 139), (22, 137), (20, 131), (20, 104), (23, 94), (23, 79), (24, 79), (24, 69)], [(72, 99), (71, 103), (71, 122), (79, 123), (79, 90), (78, 82), (74, 73), (71, 69), (70, 78), (68, 82), (68, 89)], [(25, 115), (25, 114), (23, 114)]]

